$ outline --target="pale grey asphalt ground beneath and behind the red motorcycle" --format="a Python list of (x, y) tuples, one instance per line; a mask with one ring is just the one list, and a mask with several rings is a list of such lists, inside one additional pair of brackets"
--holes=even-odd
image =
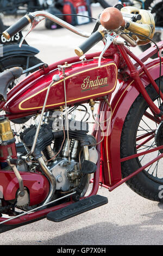
[[(101, 8), (92, 8), (97, 17)], [(93, 25), (80, 26), (87, 32)], [(85, 39), (66, 29), (48, 31), (39, 25), (27, 38), (38, 48), (38, 58), (51, 64), (74, 56)], [(89, 52), (102, 50), (98, 43)], [(139, 49), (133, 50), (139, 54)], [(123, 184), (112, 192), (99, 188), (109, 203), (60, 223), (46, 219), (0, 234), (0, 245), (162, 245), (163, 205), (140, 197)]]

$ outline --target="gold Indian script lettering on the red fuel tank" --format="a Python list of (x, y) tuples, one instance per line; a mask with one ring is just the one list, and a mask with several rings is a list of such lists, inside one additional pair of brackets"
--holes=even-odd
[(94, 90), (98, 89), (99, 87), (105, 87), (109, 86), (108, 84), (108, 77), (100, 78), (100, 76), (97, 76), (95, 80), (90, 80), (90, 76), (87, 76), (81, 85), (82, 92), (85, 90)]

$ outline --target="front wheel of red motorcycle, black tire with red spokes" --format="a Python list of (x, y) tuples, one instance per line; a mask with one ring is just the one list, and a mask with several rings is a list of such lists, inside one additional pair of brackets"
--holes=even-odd
[[(156, 83), (158, 84), (159, 80), (156, 80)], [(163, 91), (163, 77), (161, 77), (160, 88), (161, 91)], [(147, 87), (147, 92), (151, 99), (159, 105), (158, 94), (151, 85)], [(159, 121), (157, 120), (158, 124), (156, 124), (154, 115), (153, 121), (147, 118), (145, 116), (147, 112), (152, 114), (145, 99), (143, 99), (142, 95), (139, 95), (131, 106), (124, 121), (121, 135), (121, 158), (140, 153), (143, 150), (149, 150), (163, 144), (163, 141), (161, 141), (163, 123), (159, 124)], [(156, 126), (158, 127), (158, 125), (160, 125), (160, 129), (157, 128), (159, 132), (156, 132)], [(149, 136), (152, 135), (149, 135), (149, 132), (152, 132), (154, 137), (140, 147), (140, 144), (145, 141), (145, 139), (149, 139)], [(146, 138), (141, 140), (141, 136), (144, 136), (143, 133), (146, 135)], [(160, 144), (158, 143), (158, 138), (161, 141)], [(162, 151), (155, 151), (155, 153), (142, 155), (135, 159), (122, 162), (122, 178), (125, 178), (129, 174), (135, 172), (135, 170), (144, 166), (161, 153)], [(162, 160), (163, 159), (156, 161), (153, 165), (147, 167), (146, 170), (143, 170), (141, 173), (129, 179), (126, 184), (140, 196), (161, 202), (162, 197), (160, 197), (159, 192), (161, 189), (160, 186), (163, 184), (163, 170), (161, 168), (161, 163), (163, 163)]]

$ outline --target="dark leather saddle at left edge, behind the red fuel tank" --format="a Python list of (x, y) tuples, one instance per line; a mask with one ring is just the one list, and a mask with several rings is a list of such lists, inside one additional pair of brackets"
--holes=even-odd
[(22, 75), (23, 69), (15, 67), (0, 73), (0, 100), (7, 101), (7, 91), (10, 84)]

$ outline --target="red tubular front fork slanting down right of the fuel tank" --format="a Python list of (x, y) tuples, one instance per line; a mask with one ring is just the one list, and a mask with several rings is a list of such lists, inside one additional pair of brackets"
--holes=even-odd
[(155, 115), (157, 115), (158, 117), (161, 118), (161, 120), (163, 119), (163, 112), (161, 109), (159, 109), (154, 102), (151, 100), (151, 98), (149, 97), (145, 87), (142, 84), (142, 81), (140, 79), (140, 74), (139, 71), (135, 68), (134, 64), (131, 62), (129, 56), (131, 58), (133, 58), (137, 63), (139, 63), (139, 65), (141, 66), (142, 70), (145, 72), (145, 74), (147, 75), (147, 77), (149, 78), (149, 81), (151, 82), (152, 86), (154, 87), (154, 89), (156, 90), (156, 92), (159, 94), (161, 100), (163, 101), (163, 94), (162, 92), (159, 90), (159, 87), (157, 86), (157, 84), (155, 83), (155, 81), (153, 80), (152, 76), (149, 74), (146, 65), (143, 64), (143, 62), (141, 62), (141, 60), (139, 58), (137, 58), (133, 53), (131, 53), (126, 47), (124, 47), (123, 45), (118, 45), (117, 46), (118, 49), (120, 50), (122, 57), (124, 58), (124, 60), (126, 60), (127, 66), (129, 68), (130, 71), (130, 77), (132, 77), (134, 79), (134, 81), (136, 82), (137, 88), (139, 89), (139, 92), (143, 95), (144, 99), (146, 100), (146, 102), (148, 103), (149, 107), (152, 109), (152, 111), (154, 112)]

